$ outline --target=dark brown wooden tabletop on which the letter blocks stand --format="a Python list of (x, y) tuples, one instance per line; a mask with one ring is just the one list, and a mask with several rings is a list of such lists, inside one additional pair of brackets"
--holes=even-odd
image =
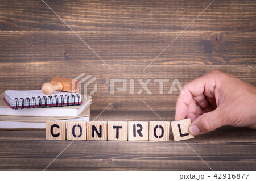
[[(100, 111), (92, 111), (94, 119)], [(173, 112), (157, 112), (170, 120)], [(97, 120), (159, 121), (151, 111), (106, 111)], [(192, 140), (49, 141), (44, 130), (0, 130), (0, 170), (255, 170), (256, 134), (222, 127)], [(199, 158), (194, 151), (199, 155)]]

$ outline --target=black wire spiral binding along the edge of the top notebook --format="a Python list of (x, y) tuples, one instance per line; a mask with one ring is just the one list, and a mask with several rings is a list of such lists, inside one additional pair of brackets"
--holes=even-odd
[[(55, 95), (54, 96), (54, 98), (51, 96), (51, 95), (49, 95), (48, 96), (48, 98), (49, 98), (49, 104), (47, 104), (48, 103), (48, 99), (47, 99), (47, 96), (43, 96), (43, 97), (40, 97), (40, 96), (38, 96), (37, 98), (35, 98), (34, 96), (32, 96), (31, 98), (26, 98), (26, 103), (25, 103), (25, 99), (24, 98), (20, 98), (20, 100), (21, 100), (21, 107), (19, 107), (19, 99), (18, 98), (15, 98), (14, 100), (15, 100), (15, 103), (16, 103), (16, 105), (15, 105), (15, 109), (16, 110), (18, 110), (18, 108), (21, 108), (21, 109), (24, 109), (25, 107), (27, 107), (27, 108), (35, 108), (35, 107), (53, 107), (53, 106), (55, 106), (55, 107), (57, 107), (57, 106), (59, 106), (59, 107), (61, 107), (61, 106), (74, 106), (74, 105), (80, 105), (81, 104), (81, 98), (80, 98), (80, 95), (79, 94), (71, 94), (71, 96), (72, 96), (72, 103), (71, 103), (71, 100), (69, 99), (69, 95), (68, 94), (65, 94), (64, 96), (63, 95), (60, 95), (60, 96), (57, 96), (57, 95)], [(76, 98), (76, 96), (77, 96), (77, 103), (75, 102), (75, 98)], [(59, 98), (61, 99), (61, 102), (60, 102), (60, 104), (59, 104)], [(65, 99), (67, 100), (67, 103), (65, 103), (65, 105), (64, 105), (64, 100)], [(39, 104), (36, 106), (36, 99), (38, 99), (38, 102), (39, 102)], [(53, 104), (53, 99), (55, 99), (55, 104)], [(30, 100), (32, 100), (32, 104), (30, 104)], [(44, 101), (44, 103), (43, 103), (43, 101)], [(25, 105), (26, 104), (26, 105)]]

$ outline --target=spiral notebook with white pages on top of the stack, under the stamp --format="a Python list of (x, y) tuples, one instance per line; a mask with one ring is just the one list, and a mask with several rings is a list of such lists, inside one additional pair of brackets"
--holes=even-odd
[(5, 102), (12, 109), (39, 107), (75, 106), (82, 104), (81, 94), (53, 91), (52, 94), (44, 94), (41, 90), (5, 91)]

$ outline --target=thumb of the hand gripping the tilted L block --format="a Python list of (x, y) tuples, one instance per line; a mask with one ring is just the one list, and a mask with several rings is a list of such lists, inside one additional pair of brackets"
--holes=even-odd
[(189, 132), (194, 135), (203, 134), (225, 125), (224, 115), (221, 112), (220, 107), (218, 107), (216, 110), (197, 117), (197, 119), (191, 123)]

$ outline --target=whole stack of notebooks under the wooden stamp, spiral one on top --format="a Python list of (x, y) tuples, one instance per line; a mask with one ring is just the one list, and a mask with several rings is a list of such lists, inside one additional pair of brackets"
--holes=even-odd
[(46, 121), (89, 121), (90, 96), (41, 90), (7, 90), (0, 94), (0, 128), (46, 128)]

